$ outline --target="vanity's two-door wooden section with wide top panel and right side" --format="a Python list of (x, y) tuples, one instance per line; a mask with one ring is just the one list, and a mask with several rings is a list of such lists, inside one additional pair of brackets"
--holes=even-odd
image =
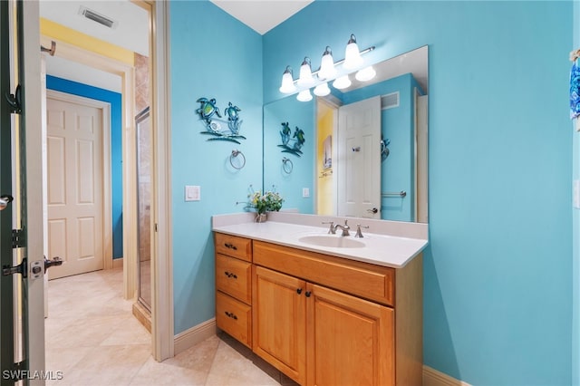
[(250, 346), (288, 377), (421, 384), (421, 256), (395, 269), (254, 240), (251, 271)]

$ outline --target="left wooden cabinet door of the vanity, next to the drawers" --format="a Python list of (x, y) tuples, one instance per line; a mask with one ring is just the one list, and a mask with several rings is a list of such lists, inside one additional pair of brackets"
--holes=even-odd
[(300, 384), (306, 381), (305, 282), (254, 265), (254, 352)]

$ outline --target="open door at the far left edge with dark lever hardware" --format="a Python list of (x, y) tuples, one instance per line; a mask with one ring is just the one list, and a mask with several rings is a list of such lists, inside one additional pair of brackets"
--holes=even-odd
[(0, 0), (0, 31), (0, 384), (35, 386), (54, 378), (44, 369), (38, 2)]

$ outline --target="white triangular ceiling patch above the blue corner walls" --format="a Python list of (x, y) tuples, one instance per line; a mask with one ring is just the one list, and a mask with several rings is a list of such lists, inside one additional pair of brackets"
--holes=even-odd
[(210, 0), (246, 24), (258, 34), (266, 34), (276, 25), (314, 0)]

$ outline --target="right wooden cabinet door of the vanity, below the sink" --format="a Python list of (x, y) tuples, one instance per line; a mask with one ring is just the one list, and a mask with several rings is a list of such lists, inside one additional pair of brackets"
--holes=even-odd
[(307, 285), (308, 385), (394, 385), (394, 311)]

